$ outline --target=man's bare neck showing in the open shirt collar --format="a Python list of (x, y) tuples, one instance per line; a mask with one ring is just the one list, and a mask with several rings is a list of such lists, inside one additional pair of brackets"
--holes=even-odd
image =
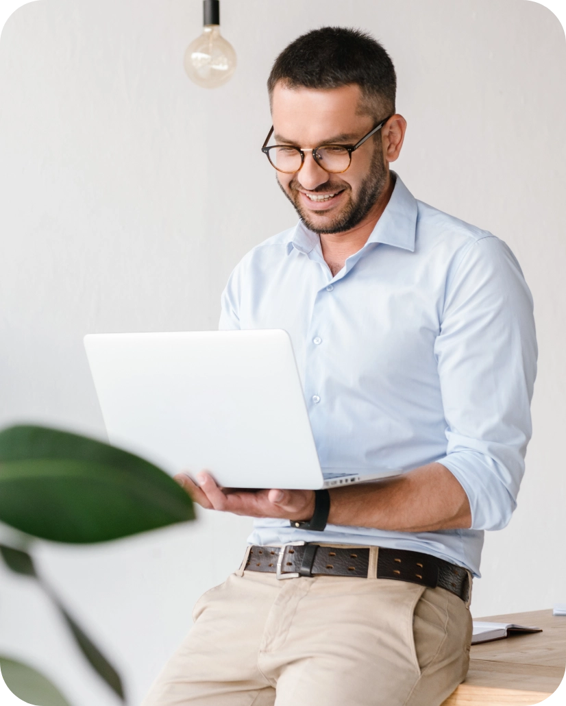
[(342, 233), (320, 234), (320, 247), (323, 251), (323, 258), (325, 258), (332, 275), (342, 270), (347, 258), (357, 253), (366, 244), (387, 203), (389, 203), (394, 186), (395, 182), (391, 174), (388, 173), (383, 193), (358, 225)]

